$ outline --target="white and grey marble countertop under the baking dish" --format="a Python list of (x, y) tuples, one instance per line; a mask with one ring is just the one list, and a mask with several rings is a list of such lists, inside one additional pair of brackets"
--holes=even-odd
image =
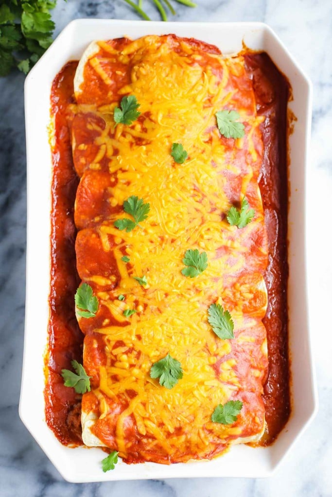
[[(148, 4), (149, 0), (145, 0)], [(24, 75), (0, 79), (0, 495), (2, 497), (257, 497), (332, 496), (332, 2), (331, 0), (197, 0), (177, 5), (176, 20), (263, 21), (269, 24), (314, 83), (311, 182), (313, 249), (310, 302), (320, 410), (275, 476), (255, 479), (180, 479), (69, 484), (18, 417), (24, 328), (26, 167)], [(147, 9), (158, 18), (152, 3)], [(135, 19), (121, 0), (58, 0), (59, 32), (78, 17)], [(316, 253), (315, 253), (316, 251)], [(37, 305), (37, 303), (36, 303)], [(330, 346), (329, 346), (330, 345)], [(32, 386), (33, 388), (33, 386)], [(331, 411), (330, 411), (331, 410)]]

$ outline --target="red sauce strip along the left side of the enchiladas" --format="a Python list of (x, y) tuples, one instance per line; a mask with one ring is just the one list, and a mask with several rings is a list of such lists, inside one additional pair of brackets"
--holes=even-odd
[(63, 444), (81, 444), (81, 396), (65, 387), (62, 369), (71, 361), (82, 363), (83, 334), (74, 306), (80, 284), (76, 270), (74, 202), (79, 179), (74, 169), (68, 105), (75, 102), (73, 80), (77, 62), (70, 62), (56, 76), (51, 92), (55, 145), (52, 153), (51, 291), (49, 341), (46, 357), (46, 421)]

